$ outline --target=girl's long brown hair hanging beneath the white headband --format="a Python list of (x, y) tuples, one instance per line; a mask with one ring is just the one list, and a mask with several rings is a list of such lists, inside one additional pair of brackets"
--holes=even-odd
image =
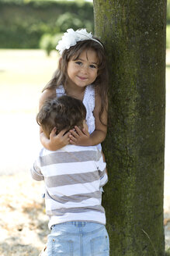
[[(94, 37), (99, 41), (97, 37)], [(100, 42), (101, 43), (101, 42)], [(99, 119), (101, 120), (102, 112), (106, 108), (106, 97), (108, 92), (108, 70), (106, 66), (106, 52), (104, 46), (100, 45), (96, 41), (85, 40), (78, 41), (77, 44), (71, 46), (68, 50), (65, 49), (63, 54), (61, 55), (61, 59), (59, 61), (58, 68), (54, 73), (54, 76), (43, 88), (43, 91), (46, 89), (53, 89), (54, 87), (58, 87), (63, 84), (63, 86), (67, 83), (68, 78), (68, 62), (71, 58), (74, 57), (74, 60), (78, 59), (79, 55), (85, 50), (92, 49), (96, 52), (98, 57), (98, 76), (96, 77), (93, 85), (95, 87), (95, 93), (99, 94), (102, 102), (102, 106), (99, 112)]]

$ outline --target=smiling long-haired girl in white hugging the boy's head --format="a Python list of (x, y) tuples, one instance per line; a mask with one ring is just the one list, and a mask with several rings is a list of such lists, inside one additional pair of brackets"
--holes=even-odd
[[(68, 29), (57, 44), (61, 54), (54, 77), (43, 89), (40, 107), (47, 98), (67, 94), (81, 100), (87, 110), (88, 130), (62, 130), (56, 135), (56, 128), (47, 139), (40, 130), (40, 140), (44, 148), (56, 151), (66, 144), (80, 146), (98, 145), (106, 137), (107, 131), (107, 82), (106, 52), (98, 38), (85, 29)], [(67, 132), (67, 133), (66, 133)]]

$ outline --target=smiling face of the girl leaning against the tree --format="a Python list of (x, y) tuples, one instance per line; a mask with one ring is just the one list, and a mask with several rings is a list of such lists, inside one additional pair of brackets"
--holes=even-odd
[(68, 86), (85, 87), (92, 84), (98, 73), (98, 58), (94, 50), (85, 50), (68, 62)]

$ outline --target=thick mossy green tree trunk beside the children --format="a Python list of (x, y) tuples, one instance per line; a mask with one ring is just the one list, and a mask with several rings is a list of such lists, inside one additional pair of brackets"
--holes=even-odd
[(110, 255), (163, 256), (166, 1), (93, 2), (109, 60)]

